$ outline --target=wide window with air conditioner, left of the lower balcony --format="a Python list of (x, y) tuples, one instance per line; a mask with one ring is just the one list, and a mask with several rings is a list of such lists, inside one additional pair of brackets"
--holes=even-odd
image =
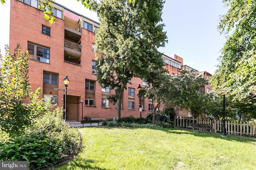
[(50, 49), (47, 47), (28, 43), (28, 53), (34, 56), (34, 60), (50, 63)]

